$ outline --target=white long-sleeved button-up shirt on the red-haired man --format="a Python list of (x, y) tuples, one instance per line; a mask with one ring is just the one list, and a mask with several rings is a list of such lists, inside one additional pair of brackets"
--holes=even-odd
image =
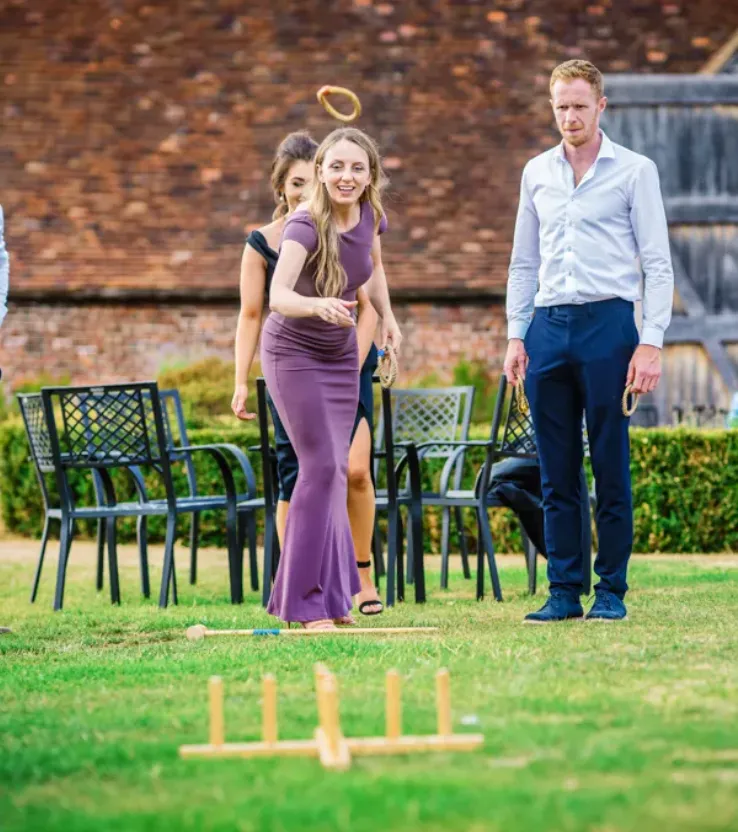
[(656, 165), (611, 142), (574, 187), (563, 142), (523, 170), (507, 284), (508, 338), (524, 338), (534, 306), (623, 298), (643, 291), (641, 343), (661, 347), (674, 273)]

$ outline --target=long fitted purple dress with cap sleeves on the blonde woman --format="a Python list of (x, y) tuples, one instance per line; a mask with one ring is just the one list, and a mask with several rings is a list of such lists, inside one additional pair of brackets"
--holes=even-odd
[[(358, 224), (339, 235), (344, 300), (356, 300), (373, 269), (374, 212), (368, 202), (360, 207)], [(379, 233), (386, 227), (382, 217)], [(307, 211), (288, 218), (285, 240), (304, 246), (310, 259), (317, 233)], [(306, 261), (295, 291), (318, 296), (313, 264)], [(340, 618), (361, 588), (346, 505), (359, 398), (356, 330), (272, 312), (262, 331), (261, 366), (300, 466), (267, 610), (284, 621)]]

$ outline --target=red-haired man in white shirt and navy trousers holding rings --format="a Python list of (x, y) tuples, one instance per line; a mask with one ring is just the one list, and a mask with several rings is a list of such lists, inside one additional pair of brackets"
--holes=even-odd
[[(550, 596), (526, 616), (584, 614), (579, 472), (586, 417), (599, 552), (588, 620), (626, 617), (633, 544), (625, 385), (656, 388), (674, 276), (654, 163), (600, 130), (607, 99), (588, 61), (551, 75), (561, 144), (525, 166), (508, 279), (505, 374), (525, 381), (541, 464)], [(643, 278), (643, 327), (633, 305)], [(535, 311), (535, 314), (534, 314)]]

